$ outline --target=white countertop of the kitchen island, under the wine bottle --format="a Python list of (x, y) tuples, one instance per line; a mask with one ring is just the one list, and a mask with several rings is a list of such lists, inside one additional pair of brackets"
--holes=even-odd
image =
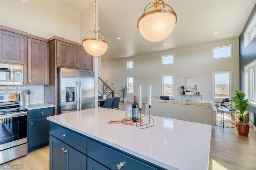
[[(92, 108), (47, 119), (168, 170), (208, 170), (210, 125), (156, 116), (152, 116), (155, 125), (144, 129), (109, 124), (124, 115), (124, 111)], [(148, 118), (142, 119), (148, 123)]]

